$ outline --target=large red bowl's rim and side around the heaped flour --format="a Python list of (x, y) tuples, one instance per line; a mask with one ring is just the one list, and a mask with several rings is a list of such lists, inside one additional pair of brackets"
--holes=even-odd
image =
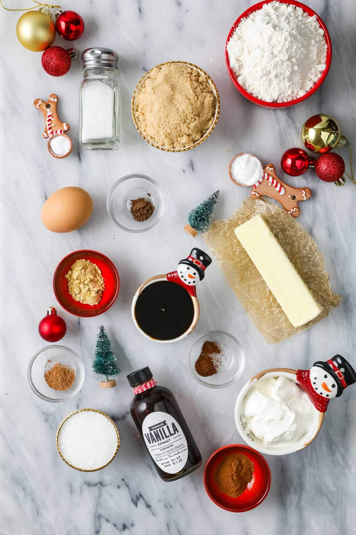
[[(326, 78), (326, 76), (327, 76), (327, 74), (329, 72), (329, 68), (330, 68), (330, 64), (331, 64), (331, 40), (330, 40), (329, 32), (328, 32), (327, 27), (325, 26), (324, 22), (321, 20), (319, 15), (317, 13), (315, 13), (315, 11), (313, 11), (310, 7), (308, 7), (307, 5), (302, 4), (300, 2), (297, 2), (296, 0), (278, 0), (282, 4), (289, 4), (291, 6), (300, 7), (310, 17), (312, 17), (314, 15), (316, 16), (318, 24), (319, 24), (320, 28), (322, 28), (322, 30), (324, 32), (325, 42), (326, 42), (326, 45), (327, 45), (326, 60), (325, 60), (326, 67), (321, 72), (320, 77), (314, 83), (313, 87), (310, 90), (308, 90), (307, 93), (305, 93), (304, 95), (300, 96), (299, 98), (295, 98), (295, 100), (289, 100), (287, 102), (267, 102), (267, 101), (264, 101), (264, 100), (260, 100), (259, 98), (256, 98), (254, 95), (251, 95), (250, 93), (248, 93), (248, 91), (246, 89), (244, 89), (244, 87), (242, 87), (242, 85), (238, 82), (238, 80), (236, 78), (236, 74), (233, 71), (233, 68), (232, 68), (232, 66), (230, 64), (230, 59), (229, 59), (228, 50), (227, 50), (227, 44), (230, 41), (232, 35), (235, 32), (235, 29), (239, 26), (239, 24), (240, 24), (242, 19), (248, 17), (251, 13), (254, 13), (255, 11), (258, 11), (258, 10), (262, 9), (264, 4), (269, 4), (269, 3), (273, 2), (273, 1), (274, 0), (265, 0), (264, 2), (259, 2), (258, 4), (252, 5), (246, 11), (244, 11), (240, 15), (240, 17), (234, 22), (230, 32), (228, 33), (227, 40), (226, 40), (225, 61), (226, 61), (227, 71), (228, 71), (228, 73), (230, 75), (230, 78), (231, 78), (234, 86), (236, 87), (236, 89), (238, 89), (240, 91), (241, 95), (246, 97), (250, 102), (253, 102), (254, 104), (257, 104), (259, 106), (263, 106), (265, 108), (287, 108), (288, 106), (293, 106), (295, 104), (298, 104), (299, 102), (302, 102), (306, 98), (308, 98), (311, 95), (313, 95), (315, 93), (315, 91), (317, 91), (317, 89), (319, 89), (319, 87), (321, 86), (323, 81), (325, 80), (325, 78)], [(305, 44), (307, 46), (307, 43), (305, 43)]]

